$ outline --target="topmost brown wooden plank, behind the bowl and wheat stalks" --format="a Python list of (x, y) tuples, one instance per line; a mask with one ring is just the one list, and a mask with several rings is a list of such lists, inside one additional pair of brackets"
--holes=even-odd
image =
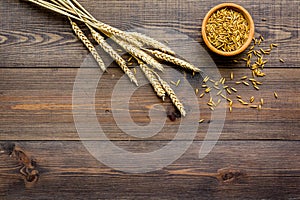
[[(96, 18), (123, 30), (134, 27), (152, 30), (171, 28), (187, 34), (202, 46), (201, 21), (211, 7), (220, 3), (107, 1), (99, 6), (97, 1), (80, 2)], [(272, 67), (299, 67), (299, 1), (233, 2), (242, 4), (253, 15), (256, 32), (264, 35), (266, 45), (274, 42), (280, 45), (270, 59)], [(66, 18), (58, 14), (30, 3), (3, 0), (0, 15), (4, 19), (0, 30), (0, 57), (5, 58), (0, 60), (1, 67), (79, 67), (88, 54), (73, 35)], [(262, 18), (267, 21), (262, 21)], [(172, 38), (166, 39), (172, 41)], [(181, 51), (187, 50), (188, 46), (182, 47)], [(212, 56), (220, 67), (239, 66), (222, 57)], [(286, 63), (278, 62), (279, 58), (285, 59)]]

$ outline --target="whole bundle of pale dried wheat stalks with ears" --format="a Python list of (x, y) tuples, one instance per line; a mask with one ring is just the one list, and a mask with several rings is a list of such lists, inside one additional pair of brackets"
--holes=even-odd
[(184, 106), (176, 96), (175, 92), (155, 70), (163, 71), (164, 69), (159, 60), (173, 63), (184, 70), (191, 71), (192, 73), (200, 72), (199, 68), (187, 61), (177, 58), (174, 51), (172, 51), (165, 44), (153, 38), (136, 32), (122, 31), (98, 21), (76, 0), (26, 1), (38, 4), (44, 8), (68, 17), (74, 33), (93, 55), (100, 69), (106, 71), (105, 64), (93, 43), (88, 39), (88, 37), (76, 23), (76, 21), (83, 22), (88, 27), (93, 39), (99, 44), (99, 46), (115, 60), (128, 78), (138, 86), (138, 81), (134, 73), (132, 73), (132, 71), (129, 69), (127, 61), (125, 61), (121, 55), (119, 55), (119, 53), (117, 53), (117, 51), (105, 41), (105, 37), (111, 38), (115, 43), (117, 43), (121, 48), (126, 50), (134, 59), (137, 60), (141, 71), (149, 80), (157, 96), (164, 100), (165, 96), (168, 95), (173, 104), (180, 111), (181, 115), (186, 115)]

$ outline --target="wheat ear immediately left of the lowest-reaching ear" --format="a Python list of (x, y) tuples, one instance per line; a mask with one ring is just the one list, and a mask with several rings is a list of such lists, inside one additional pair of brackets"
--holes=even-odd
[(157, 96), (162, 98), (162, 100), (164, 101), (166, 96), (166, 91), (162, 88), (162, 85), (160, 84), (156, 76), (153, 74), (152, 70), (149, 69), (149, 67), (145, 65), (143, 62), (140, 61), (138, 62), (141, 70), (143, 71), (146, 78), (149, 80)]

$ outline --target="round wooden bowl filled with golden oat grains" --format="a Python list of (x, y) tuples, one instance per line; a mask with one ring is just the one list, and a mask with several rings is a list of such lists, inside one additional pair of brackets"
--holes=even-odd
[(213, 52), (223, 56), (240, 54), (251, 44), (254, 22), (243, 7), (223, 3), (212, 8), (202, 24), (202, 37)]

